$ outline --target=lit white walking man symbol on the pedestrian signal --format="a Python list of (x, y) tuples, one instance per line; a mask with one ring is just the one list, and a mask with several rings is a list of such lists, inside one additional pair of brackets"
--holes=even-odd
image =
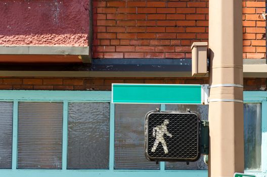
[(151, 152), (155, 152), (157, 147), (158, 147), (158, 144), (161, 143), (163, 146), (164, 153), (165, 154), (168, 153), (167, 144), (164, 140), (164, 134), (166, 134), (170, 138), (172, 137), (172, 135), (167, 130), (167, 124), (169, 124), (169, 120), (164, 119), (164, 121), (161, 125), (158, 125), (158, 126), (153, 128), (153, 137), (156, 137), (156, 140), (155, 140), (155, 143), (153, 145), (153, 148), (151, 149)]

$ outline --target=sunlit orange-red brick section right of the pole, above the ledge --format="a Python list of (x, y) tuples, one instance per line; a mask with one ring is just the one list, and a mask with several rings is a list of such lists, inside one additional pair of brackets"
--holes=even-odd
[(265, 0), (243, 1), (243, 58), (266, 58)]

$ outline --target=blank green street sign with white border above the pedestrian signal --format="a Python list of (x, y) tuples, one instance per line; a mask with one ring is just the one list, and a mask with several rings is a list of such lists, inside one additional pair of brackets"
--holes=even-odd
[(112, 84), (112, 103), (206, 104), (207, 85)]

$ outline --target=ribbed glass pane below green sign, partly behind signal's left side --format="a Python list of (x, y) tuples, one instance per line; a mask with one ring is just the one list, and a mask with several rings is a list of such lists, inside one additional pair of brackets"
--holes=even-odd
[(159, 169), (144, 154), (145, 116), (156, 108), (160, 105), (115, 105), (115, 169)]

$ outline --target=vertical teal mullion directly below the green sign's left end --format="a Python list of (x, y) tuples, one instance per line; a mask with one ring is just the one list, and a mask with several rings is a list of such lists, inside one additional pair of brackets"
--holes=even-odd
[(115, 144), (115, 105), (110, 103), (110, 128), (109, 128), (109, 169), (114, 170), (114, 144)]

